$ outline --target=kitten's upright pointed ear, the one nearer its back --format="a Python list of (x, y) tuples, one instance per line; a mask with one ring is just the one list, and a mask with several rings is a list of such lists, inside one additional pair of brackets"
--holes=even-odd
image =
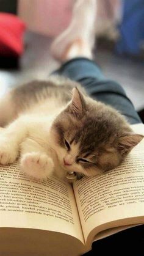
[(71, 112), (74, 115), (81, 116), (85, 110), (85, 100), (81, 92), (75, 87), (73, 89), (73, 97), (70, 105)]

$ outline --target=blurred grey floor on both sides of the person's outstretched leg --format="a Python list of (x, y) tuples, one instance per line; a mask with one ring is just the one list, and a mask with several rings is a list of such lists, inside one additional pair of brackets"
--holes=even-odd
[[(52, 70), (59, 67), (49, 53), (51, 38), (27, 32), (25, 51), (20, 60), (20, 70), (0, 70), (0, 97), (10, 87), (31, 79), (46, 79)], [(123, 85), (137, 111), (144, 108), (144, 63), (123, 59), (110, 51), (98, 50), (96, 62), (104, 73)]]

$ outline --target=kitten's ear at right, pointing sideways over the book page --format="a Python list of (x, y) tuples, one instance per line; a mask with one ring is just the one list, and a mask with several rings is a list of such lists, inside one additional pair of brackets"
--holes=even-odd
[(143, 139), (143, 135), (128, 133), (118, 139), (118, 151), (126, 156)]

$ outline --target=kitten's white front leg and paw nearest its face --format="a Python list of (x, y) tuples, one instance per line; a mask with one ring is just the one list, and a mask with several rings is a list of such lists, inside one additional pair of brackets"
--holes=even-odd
[(45, 147), (29, 138), (21, 144), (20, 165), (24, 173), (40, 180), (54, 172), (54, 163)]

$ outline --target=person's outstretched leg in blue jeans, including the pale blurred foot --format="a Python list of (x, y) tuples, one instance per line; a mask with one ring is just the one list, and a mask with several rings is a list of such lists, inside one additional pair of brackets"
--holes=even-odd
[(123, 87), (118, 82), (105, 78), (101, 68), (92, 60), (95, 3), (96, 0), (76, 2), (70, 26), (52, 44), (54, 57), (65, 62), (54, 73), (80, 82), (93, 99), (113, 106), (129, 123), (140, 123), (140, 117)]

